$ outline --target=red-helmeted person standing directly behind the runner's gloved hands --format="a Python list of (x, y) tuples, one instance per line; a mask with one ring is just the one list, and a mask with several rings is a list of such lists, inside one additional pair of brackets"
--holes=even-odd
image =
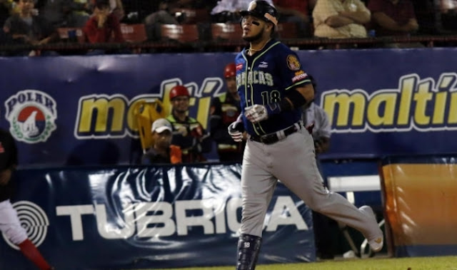
[(227, 133), (227, 128), (236, 121), (241, 112), (240, 96), (236, 90), (235, 63), (226, 65), (224, 78), (227, 92), (219, 98), (214, 98), (211, 104), (211, 137), (216, 142), (219, 161), (241, 162), (246, 140), (235, 142)]

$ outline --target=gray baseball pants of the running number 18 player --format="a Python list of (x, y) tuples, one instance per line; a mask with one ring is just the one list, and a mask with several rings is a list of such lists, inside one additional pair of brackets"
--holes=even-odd
[(367, 239), (382, 234), (376, 220), (323, 187), (313, 137), (305, 128), (271, 145), (248, 140), (241, 172), (241, 234), (262, 236), (266, 209), (278, 180), (314, 211), (357, 229)]

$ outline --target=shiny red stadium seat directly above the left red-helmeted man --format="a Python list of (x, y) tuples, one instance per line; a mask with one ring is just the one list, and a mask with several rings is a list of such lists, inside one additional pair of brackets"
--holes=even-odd
[(181, 43), (199, 40), (199, 27), (196, 24), (162, 24), (161, 39), (172, 39)]

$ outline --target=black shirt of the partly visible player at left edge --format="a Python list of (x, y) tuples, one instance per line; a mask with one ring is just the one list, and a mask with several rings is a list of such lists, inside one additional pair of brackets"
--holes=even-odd
[[(0, 128), (0, 172), (6, 169), (14, 169), (17, 165), (16, 142), (8, 131)], [(13, 193), (12, 179), (7, 185), (0, 185), (0, 202), (11, 198)]]

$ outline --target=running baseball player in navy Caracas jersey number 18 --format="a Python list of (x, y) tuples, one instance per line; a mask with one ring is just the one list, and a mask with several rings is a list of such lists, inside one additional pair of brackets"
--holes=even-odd
[(243, 209), (237, 269), (255, 269), (266, 209), (281, 182), (316, 212), (358, 229), (373, 251), (383, 232), (370, 207), (357, 209), (340, 194), (323, 188), (314, 142), (301, 123), (301, 106), (313, 100), (313, 86), (296, 53), (271, 38), (278, 14), (266, 1), (241, 11), (242, 37), (250, 43), (235, 58), (241, 116), (229, 126), (233, 140), (248, 142), (243, 155)]

